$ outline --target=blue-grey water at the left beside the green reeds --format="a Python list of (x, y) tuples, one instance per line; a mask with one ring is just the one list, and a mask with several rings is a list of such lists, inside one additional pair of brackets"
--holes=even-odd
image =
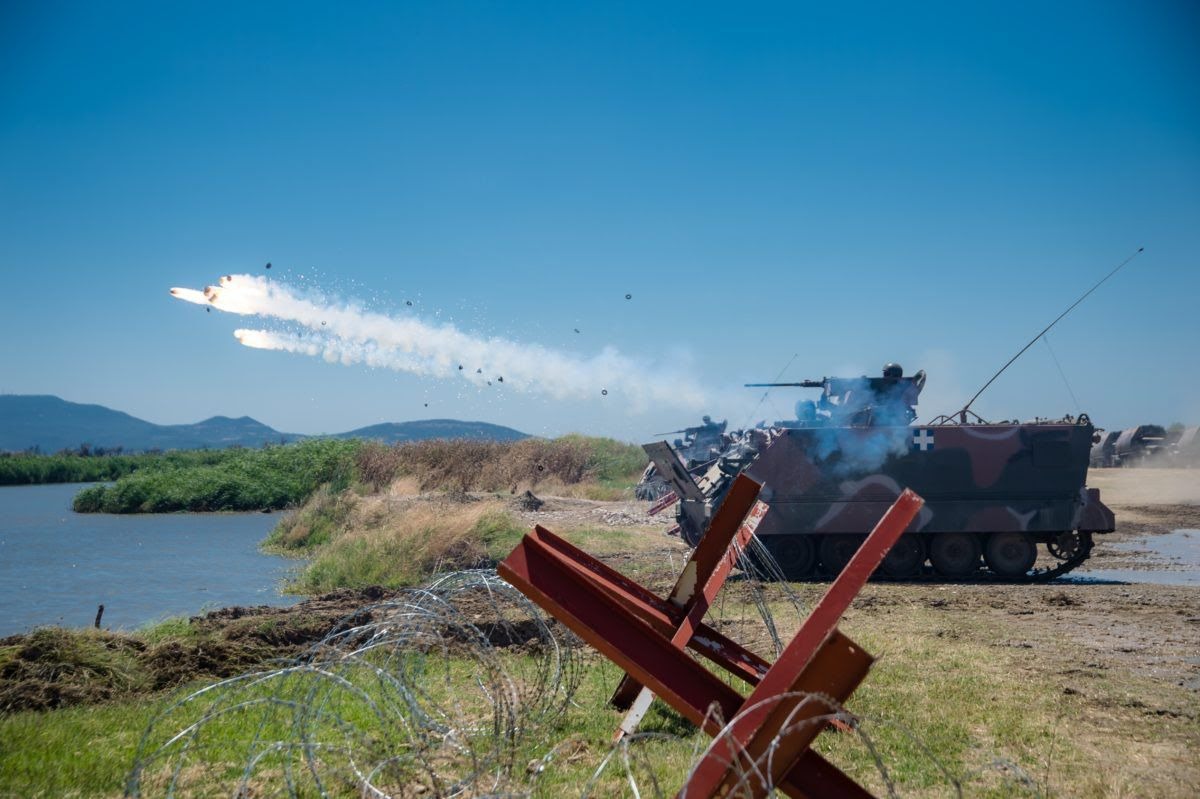
[(0, 636), (56, 624), (136, 629), (230, 605), (292, 605), (296, 561), (257, 547), (268, 513), (76, 513), (78, 483), (0, 487)]

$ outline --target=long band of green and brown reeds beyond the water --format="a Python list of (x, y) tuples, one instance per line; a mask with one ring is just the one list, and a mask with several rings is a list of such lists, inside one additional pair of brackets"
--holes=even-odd
[[(628, 492), (646, 467), (646, 455), (637, 446), (575, 434), (511, 443), (434, 439), (386, 446), (312, 439), (260, 450), (14, 456), (0, 458), (0, 470), (18, 461), (23, 465), (8, 474), (26, 481), (49, 481), (67, 473), (79, 479), (77, 462), (110, 462), (113, 474), (94, 479), (115, 482), (80, 491), (74, 499), (74, 510), (80, 513), (281, 510), (300, 505), (320, 486), (328, 486), (330, 497), (355, 483), (383, 491), (400, 476), (415, 477), (426, 491), (512, 491), (550, 482), (582, 486), (588, 495), (612, 499)], [(313, 517), (310, 530), (272, 543), (302, 548), (312, 545), (304, 543), (308, 539), (328, 540), (330, 525), (340, 523), (337, 513), (342, 511), (325, 507), (322, 512), (326, 516)]]

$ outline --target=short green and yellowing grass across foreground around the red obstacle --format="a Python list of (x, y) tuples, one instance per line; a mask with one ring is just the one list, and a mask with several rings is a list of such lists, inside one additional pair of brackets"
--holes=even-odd
[[(596, 543), (599, 534), (592, 531), (587, 537)], [(620, 545), (613, 548), (623, 549)], [(739, 588), (718, 603), (710, 623), (769, 655), (756, 612)], [(811, 602), (822, 587), (799, 589)], [(1031, 660), (1028, 649), (996, 647), (997, 641), (1021, 635), (1019, 619), (997, 624), (995, 617), (972, 613), (950, 620), (936, 603), (895, 601), (902, 600), (896, 595), (900, 589), (904, 587), (869, 588), (862, 601), (864, 609), (852, 609), (842, 625), (878, 659), (850, 705), (862, 719), (860, 734), (829, 731), (816, 744), (877, 795), (886, 795), (889, 783), (904, 797), (954, 795), (956, 786), (966, 795), (983, 797), (1189, 795), (1181, 774), (1194, 771), (1186, 761), (1187, 753), (1194, 752), (1195, 722), (1181, 726), (1142, 709), (1150, 707), (1151, 697), (1187, 703), (1182, 689), (1168, 691), (1164, 698), (1164, 686), (1154, 680), (1108, 673), (1088, 683), (1086, 691), (1068, 690), (1064, 681), (1068, 686), (1078, 683), (1048, 679), (1058, 673), (1057, 662), (1048, 669)], [(880, 602), (894, 601), (886, 615), (874, 612)], [(772, 608), (787, 635), (794, 612), (779, 596)], [(164, 641), (173, 635), (166, 631)], [(515, 661), (528, 657), (520, 650), (504, 656)], [(1060, 656), (1064, 662), (1082, 661), (1066, 642)], [(468, 707), (479, 699), (473, 666), (470, 659), (451, 662), (425, 684), (425, 693), (443, 701), (454, 697), (460, 708)], [(517, 665), (514, 671), (520, 668)], [(659, 795), (652, 787), (655, 782), (661, 795), (673, 793), (708, 739), (656, 704), (642, 727), (648, 738), (635, 743), (630, 752), (612, 756), (611, 733), (620, 715), (606, 701), (618, 678), (607, 661), (584, 654), (581, 683), (566, 714), (514, 744), (516, 750), (502, 775), (504, 786), (544, 797), (581, 795), (589, 785), (595, 797), (634, 795), (625, 774), (628, 758), (641, 795)], [(360, 683), (374, 690), (368, 675)], [(1180, 696), (1171, 699), (1175, 693)], [(283, 696), (293, 695), (294, 689)], [(140, 733), (166, 704), (161, 693), (140, 693), (91, 707), (0, 715), (0, 795), (120, 795)], [(172, 719), (172, 723), (160, 726), (160, 737), (182, 729), (193, 719)], [(342, 719), (371, 740), (385, 739), (385, 732), (398, 725), (398, 716), (380, 720), (364, 714), (361, 707), (343, 708)], [(292, 722), (275, 715), (268, 722), (254, 713), (226, 719), (214, 729), (215, 738), (203, 756), (197, 755), (188, 765), (190, 791), (199, 792), (200, 783), (211, 783), (216, 794), (223, 791), (228, 795), (256, 737), (293, 740)], [(380, 732), (372, 733), (377, 727)], [(344, 729), (330, 725), (320, 733), (310, 728), (307, 737), (314, 735), (325, 735), (337, 745), (344, 740)], [(542, 770), (527, 765), (551, 751), (556, 755)], [(606, 758), (607, 765), (593, 781)], [(264, 765), (254, 782), (259, 788), (270, 783), (277, 789), (281, 769), (278, 763)], [(154, 779), (150, 783), (155, 785)], [(334, 795), (359, 795), (350, 782), (335, 787)]]

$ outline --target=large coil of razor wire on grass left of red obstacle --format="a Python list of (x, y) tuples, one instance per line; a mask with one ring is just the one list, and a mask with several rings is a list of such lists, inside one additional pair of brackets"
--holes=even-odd
[(168, 705), (126, 794), (496, 793), (565, 711), (581, 651), (494, 571), (456, 572), (360, 609), (292, 662)]

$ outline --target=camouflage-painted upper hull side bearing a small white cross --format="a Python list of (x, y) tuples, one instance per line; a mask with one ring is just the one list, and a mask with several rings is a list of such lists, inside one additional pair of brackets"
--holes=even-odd
[[(1088, 425), (962, 425), (900, 428), (914, 444), (877, 471), (839, 474), (821, 458), (818, 431), (784, 431), (746, 469), (770, 512), (760, 535), (870, 531), (905, 488), (925, 498), (910, 533), (1061, 533), (1080, 529)], [(890, 434), (852, 428), (850, 434)], [(1098, 498), (1097, 498), (1098, 501)], [(1111, 531), (1110, 522), (1091, 531)]]

